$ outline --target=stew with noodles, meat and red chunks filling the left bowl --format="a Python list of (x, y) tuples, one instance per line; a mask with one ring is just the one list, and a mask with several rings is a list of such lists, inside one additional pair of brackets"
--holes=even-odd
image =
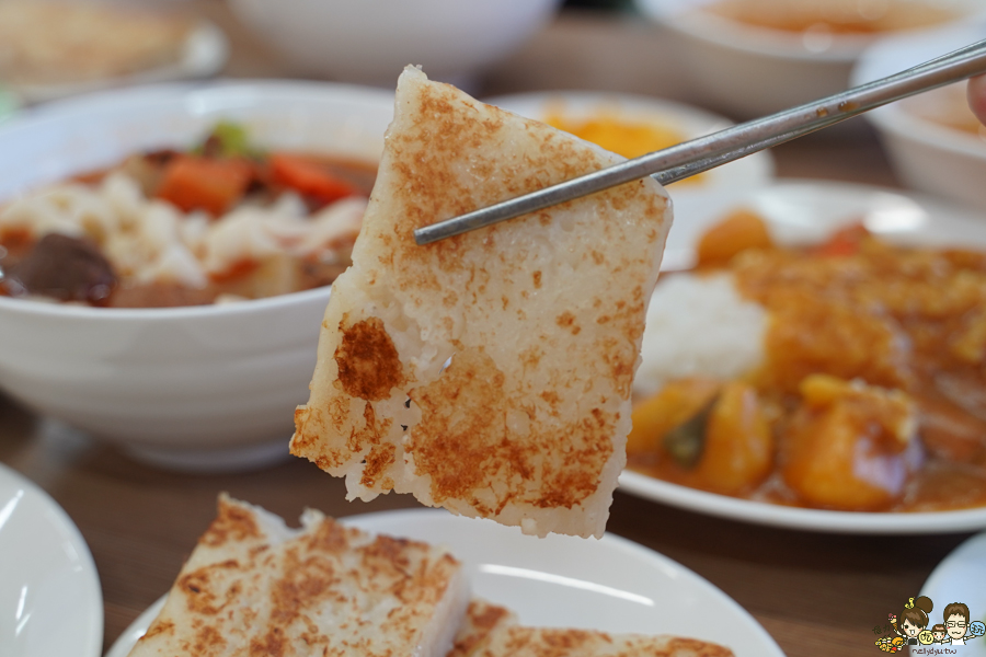
[(329, 285), (375, 177), (367, 162), (263, 151), (220, 123), (187, 150), (137, 153), (0, 206), (0, 293), (168, 307)]

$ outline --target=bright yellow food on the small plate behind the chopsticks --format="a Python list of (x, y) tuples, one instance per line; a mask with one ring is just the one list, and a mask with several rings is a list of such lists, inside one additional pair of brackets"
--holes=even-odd
[[(561, 108), (551, 108), (543, 120), (551, 127), (571, 132), (628, 159), (639, 158), (687, 139), (684, 132), (656, 117), (650, 120), (631, 118), (622, 116), (618, 108), (610, 107), (599, 108), (588, 118), (576, 118), (566, 115)], [(704, 175), (695, 175), (677, 184), (697, 183)]]

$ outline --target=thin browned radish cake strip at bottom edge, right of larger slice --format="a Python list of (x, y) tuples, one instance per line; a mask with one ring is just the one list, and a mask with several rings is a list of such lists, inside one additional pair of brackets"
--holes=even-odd
[(477, 657), (731, 657), (726, 647), (677, 636), (509, 626)]

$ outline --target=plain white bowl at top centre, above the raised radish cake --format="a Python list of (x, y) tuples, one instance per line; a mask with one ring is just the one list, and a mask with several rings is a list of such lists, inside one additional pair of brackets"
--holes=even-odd
[(392, 87), (409, 64), (468, 84), (541, 28), (560, 0), (229, 0), (236, 15), (308, 72)]

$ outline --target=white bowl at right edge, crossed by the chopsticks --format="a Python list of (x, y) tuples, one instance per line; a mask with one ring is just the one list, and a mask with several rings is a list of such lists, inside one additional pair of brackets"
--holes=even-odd
[[(986, 37), (986, 22), (901, 35), (867, 50), (852, 73), (862, 84)], [(965, 100), (965, 82), (867, 113), (901, 182), (986, 209), (986, 131)]]

